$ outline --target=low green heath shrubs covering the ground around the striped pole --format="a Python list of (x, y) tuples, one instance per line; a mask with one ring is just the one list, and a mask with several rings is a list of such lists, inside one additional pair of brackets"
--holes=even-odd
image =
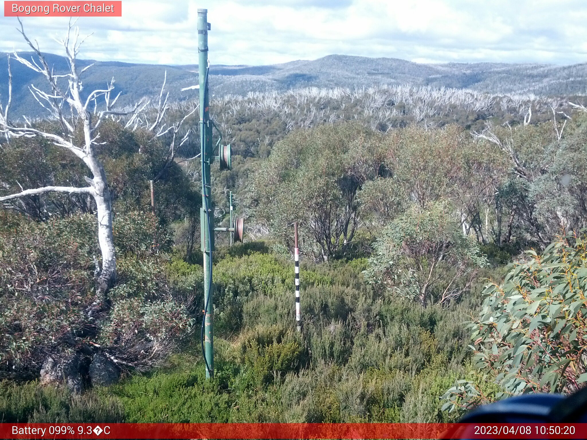
[[(134, 261), (122, 259), (121, 267)], [(214, 380), (205, 380), (196, 332), (191, 344), (183, 346), (183, 354), (172, 355), (166, 365), (95, 388), (80, 397), (79, 402), (85, 402), (86, 396), (89, 402), (79, 405), (95, 408), (91, 417), (87, 415), (87, 420), (95, 421), (453, 421), (456, 415), (440, 411), (439, 397), (458, 378), (471, 378), (464, 356), (468, 334), (461, 324), (471, 309), (464, 304), (422, 308), (402, 298), (382, 299), (363, 279), (360, 270), (365, 263), (359, 259), (302, 265), (303, 335), (299, 335), (293, 319), (292, 263), (266, 253), (227, 256), (216, 265), (215, 317), (220, 320), (220, 310), (228, 303), (222, 292), (237, 292), (241, 321), (236, 329), (215, 334)], [(201, 266), (177, 257), (160, 266), (160, 272), (157, 266), (147, 265), (144, 270), (155, 280), (164, 276), (172, 295), (177, 295), (175, 289), (200, 292)], [(147, 279), (140, 273), (130, 275), (130, 269), (121, 273), (127, 274), (124, 279)], [(125, 299), (117, 297), (103, 334), (113, 331), (122, 343), (135, 329), (135, 342), (139, 337), (149, 341), (147, 328), (153, 337), (161, 331), (187, 333), (170, 327), (181, 321), (173, 314), (179, 306), (158, 306), (160, 297), (141, 300), (141, 292), (154, 295), (151, 289), (159, 288), (164, 285), (146, 284)], [(151, 317), (143, 312), (149, 304)], [(34, 382), (11, 387), (15, 391), (0, 405), (23, 407), (19, 402), (25, 395), (31, 402), (18, 411), (7, 409), (13, 420), (45, 421), (49, 416), (35, 415), (35, 409), (56, 414), (50, 408), (78, 405), (77, 397), (65, 391), (58, 391), (62, 394), (55, 404), (46, 403), (42, 393), (54, 392), (53, 388)], [(59, 414), (59, 420), (78, 417), (71, 409)]]

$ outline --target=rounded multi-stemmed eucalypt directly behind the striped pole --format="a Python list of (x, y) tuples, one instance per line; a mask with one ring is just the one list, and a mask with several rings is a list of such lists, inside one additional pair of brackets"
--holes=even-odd
[(251, 177), (255, 218), (290, 248), (288, 225), (298, 221), (306, 255), (328, 260), (345, 251), (359, 224), (357, 191), (380, 174), (379, 138), (357, 124), (290, 134)]

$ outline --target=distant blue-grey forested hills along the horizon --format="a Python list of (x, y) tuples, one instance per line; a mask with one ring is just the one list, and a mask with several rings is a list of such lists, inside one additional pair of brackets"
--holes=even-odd
[[(31, 54), (22, 54), (30, 57)], [(66, 68), (66, 60), (47, 54), (56, 71)], [(80, 66), (93, 61), (79, 60)], [(39, 75), (13, 61), (14, 100), (12, 114), (40, 114), (28, 92), (30, 83), (45, 84)], [(180, 89), (197, 82), (197, 66), (162, 66), (120, 62), (95, 62), (85, 73), (85, 90), (102, 87), (114, 77), (121, 102), (130, 103), (153, 95), (161, 86), (164, 72), (174, 100), (194, 96)], [(587, 64), (552, 66), (537, 64), (449, 63), (430, 65), (393, 58), (329, 55), (312, 61), (293, 61), (271, 66), (212, 65), (210, 86), (216, 96), (248, 92), (282, 92), (301, 87), (361, 87), (377, 84), (452, 87), (477, 92), (575, 95), (587, 92)], [(0, 93), (5, 99), (8, 82), (6, 56), (0, 57)]]

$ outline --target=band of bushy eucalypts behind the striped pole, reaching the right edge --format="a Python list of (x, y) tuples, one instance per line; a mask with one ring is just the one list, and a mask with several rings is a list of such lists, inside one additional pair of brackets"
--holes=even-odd
[(481, 245), (542, 249), (561, 228), (587, 226), (586, 120), (573, 117), (560, 139), (552, 121), (478, 130), (492, 141), (456, 125), (385, 134), (349, 124), (296, 130), (257, 171), (247, 168), (242, 189), (252, 222), (291, 249), (287, 225), (298, 220), (302, 251), (314, 258), (365, 255), (355, 221), (377, 236), (411, 204), (426, 209), (443, 199)]

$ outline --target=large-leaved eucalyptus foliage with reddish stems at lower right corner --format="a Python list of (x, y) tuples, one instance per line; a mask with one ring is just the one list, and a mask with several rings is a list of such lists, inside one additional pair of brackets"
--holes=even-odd
[(585, 346), (585, 235), (568, 235), (540, 255), (526, 252), (502, 284), (485, 289), (483, 310), (470, 324), (474, 365), (501, 390), (491, 396), (461, 380), (447, 408), (525, 392), (573, 392), (587, 381)]

